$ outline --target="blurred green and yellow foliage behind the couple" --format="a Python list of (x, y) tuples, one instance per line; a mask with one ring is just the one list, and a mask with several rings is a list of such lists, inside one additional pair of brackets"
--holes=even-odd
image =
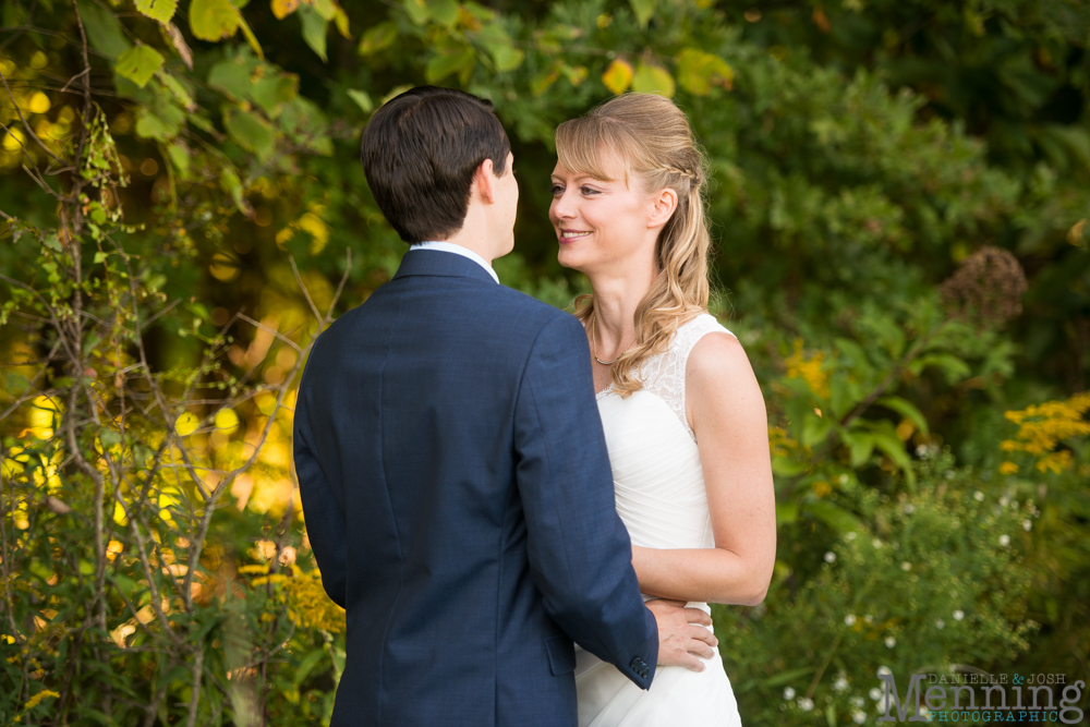
[(1090, 675), (1087, 2), (0, 5), (5, 724), (327, 724), (291, 403), (404, 252), (356, 149), (424, 83), (495, 104), (496, 267), (560, 307), (556, 124), (689, 113), (774, 450), (772, 589), (715, 610), (747, 724), (875, 722), (882, 667)]

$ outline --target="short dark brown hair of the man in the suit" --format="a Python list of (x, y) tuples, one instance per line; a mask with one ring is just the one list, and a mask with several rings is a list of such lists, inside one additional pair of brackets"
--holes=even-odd
[(473, 172), (492, 159), (494, 173), (502, 177), (510, 150), (489, 101), (455, 88), (420, 86), (375, 112), (360, 158), (379, 209), (413, 244), (458, 232)]

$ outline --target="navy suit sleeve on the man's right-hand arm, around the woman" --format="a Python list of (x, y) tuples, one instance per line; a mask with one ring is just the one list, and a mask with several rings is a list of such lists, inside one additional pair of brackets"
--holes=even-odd
[(590, 349), (572, 316), (541, 331), (516, 405), (518, 487), (531, 575), (549, 616), (643, 689), (658, 628), (643, 605), (594, 401)]

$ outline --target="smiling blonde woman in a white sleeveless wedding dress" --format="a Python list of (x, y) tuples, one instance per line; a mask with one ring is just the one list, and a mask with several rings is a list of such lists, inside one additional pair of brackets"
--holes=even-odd
[[(668, 99), (629, 94), (556, 131), (549, 218), (593, 356), (617, 510), (645, 599), (756, 605), (776, 554), (764, 399), (707, 313), (703, 157)], [(701, 627), (697, 627), (701, 628)], [(580, 727), (740, 725), (718, 651), (643, 691), (577, 649)]]

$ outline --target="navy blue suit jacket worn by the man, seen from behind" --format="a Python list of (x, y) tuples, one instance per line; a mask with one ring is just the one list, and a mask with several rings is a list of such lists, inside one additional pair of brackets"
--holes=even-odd
[(572, 640), (650, 687), (657, 627), (573, 316), (410, 251), (315, 342), (293, 450), (348, 613), (334, 727), (573, 726)]

